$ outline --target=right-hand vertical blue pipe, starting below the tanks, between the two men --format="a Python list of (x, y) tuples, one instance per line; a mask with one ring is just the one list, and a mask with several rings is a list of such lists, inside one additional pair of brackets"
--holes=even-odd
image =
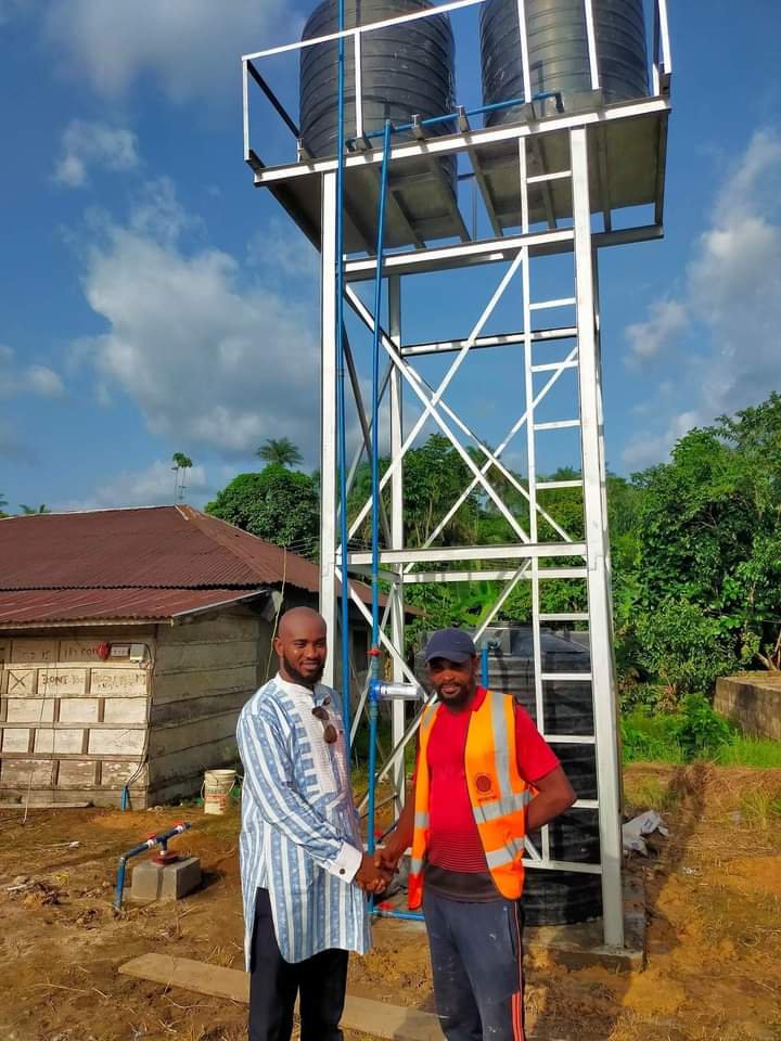
[(385, 121), (383, 162), (377, 204), (376, 278), (374, 280), (374, 336), (372, 343), (372, 659), (369, 681), (369, 824), (367, 847), (375, 849), (376, 737), (380, 701), (380, 327), (382, 324), (383, 252), (385, 246), (385, 196), (390, 155), (390, 120)]

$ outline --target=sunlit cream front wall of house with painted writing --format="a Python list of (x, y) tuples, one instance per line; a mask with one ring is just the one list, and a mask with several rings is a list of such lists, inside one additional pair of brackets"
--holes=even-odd
[[(132, 644), (137, 659), (102, 661), (101, 643)], [(146, 787), (152, 628), (0, 634), (0, 801), (118, 805)]]

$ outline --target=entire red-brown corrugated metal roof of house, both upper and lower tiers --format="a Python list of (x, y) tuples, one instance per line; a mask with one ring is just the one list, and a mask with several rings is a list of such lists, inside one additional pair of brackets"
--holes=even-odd
[[(172, 618), (283, 582), (317, 593), (319, 568), (191, 506), (0, 520), (0, 626), (7, 628)], [(371, 603), (368, 586), (354, 588)]]

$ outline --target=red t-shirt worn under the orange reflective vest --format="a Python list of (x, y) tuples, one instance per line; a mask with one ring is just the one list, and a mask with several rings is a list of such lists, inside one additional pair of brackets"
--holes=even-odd
[[(437, 715), (428, 738), (428, 863), (447, 871), (488, 871), (472, 812), (464, 768), (470, 717), (477, 711), (485, 697), (485, 687), (478, 686), (471, 709), (452, 711), (446, 705)], [(517, 768), (528, 784), (547, 776), (559, 766), (559, 759), (535, 727), (534, 720), (517, 704), (515, 745)]]

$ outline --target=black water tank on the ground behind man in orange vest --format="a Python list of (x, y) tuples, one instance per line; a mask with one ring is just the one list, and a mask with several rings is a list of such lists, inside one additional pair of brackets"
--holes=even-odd
[[(529, 626), (507, 626), (487, 630), (489, 644), (488, 685), (512, 694), (537, 722), (534, 645)], [(589, 672), (588, 647), (540, 631), (541, 665), (545, 673)], [(415, 672), (427, 686), (423, 655), (415, 657)], [(593, 734), (591, 683), (572, 680), (545, 682), (545, 732), (569, 777), (579, 799), (597, 798), (597, 760), (592, 744), (556, 742), (555, 735)], [(541, 836), (530, 835), (537, 849)], [(552, 860), (578, 864), (599, 864), (599, 814), (597, 810), (571, 809), (549, 828)], [(564, 925), (586, 922), (602, 914), (602, 886), (599, 874), (580, 871), (551, 871), (527, 868), (524, 885), (524, 913), (529, 925)]]

